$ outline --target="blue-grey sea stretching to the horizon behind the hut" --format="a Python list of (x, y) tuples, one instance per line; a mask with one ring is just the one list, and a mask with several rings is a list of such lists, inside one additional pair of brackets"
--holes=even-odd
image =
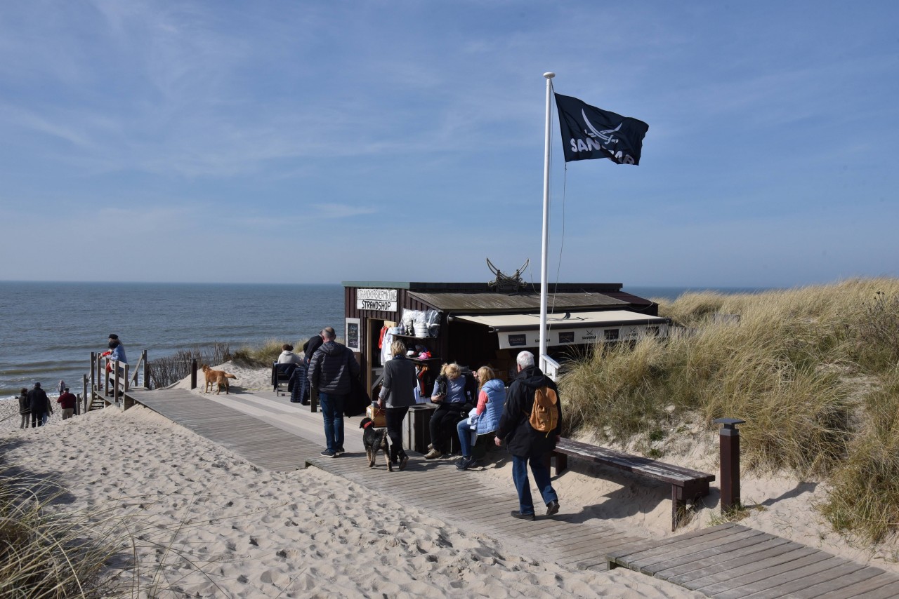
[[(687, 291), (757, 292), (734, 287), (624, 288), (676, 299)], [(91, 352), (119, 336), (136, 365), (180, 349), (231, 350), (275, 339), (302, 345), (325, 326), (343, 331), (343, 286), (0, 281), (0, 399), (35, 382), (51, 395), (59, 381), (78, 392)]]

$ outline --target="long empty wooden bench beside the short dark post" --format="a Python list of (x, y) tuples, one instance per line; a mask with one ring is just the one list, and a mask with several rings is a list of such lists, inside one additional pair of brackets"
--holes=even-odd
[(556, 475), (565, 471), (568, 467), (568, 456), (571, 455), (590, 462), (601, 463), (604, 466), (619, 468), (636, 476), (667, 482), (672, 486), (672, 531), (677, 528), (687, 501), (695, 501), (707, 496), (708, 483), (715, 480), (714, 474), (681, 468), (681, 466), (674, 466), (670, 463), (656, 462), (649, 458), (623, 454), (605, 447), (565, 438), (559, 439), (552, 455), (556, 457)]

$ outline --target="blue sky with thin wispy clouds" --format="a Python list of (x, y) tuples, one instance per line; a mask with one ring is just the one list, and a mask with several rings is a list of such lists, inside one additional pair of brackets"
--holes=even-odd
[(649, 124), (563, 162), (550, 278), (899, 275), (895, 2), (9, 2), (0, 279), (539, 281), (545, 71)]

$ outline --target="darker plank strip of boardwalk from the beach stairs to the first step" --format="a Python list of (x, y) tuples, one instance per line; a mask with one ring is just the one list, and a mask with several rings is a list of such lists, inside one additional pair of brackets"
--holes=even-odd
[(129, 391), (127, 396), (265, 470), (303, 468), (306, 456), (321, 450), (301, 436), (189, 391)]

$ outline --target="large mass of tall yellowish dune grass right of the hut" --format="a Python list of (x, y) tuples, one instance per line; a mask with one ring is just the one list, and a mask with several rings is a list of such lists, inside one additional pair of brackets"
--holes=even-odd
[(686, 294), (660, 315), (682, 327), (670, 339), (600, 346), (564, 374), (568, 430), (627, 441), (743, 418), (744, 468), (830, 480), (823, 514), (838, 530), (899, 529), (899, 279)]

